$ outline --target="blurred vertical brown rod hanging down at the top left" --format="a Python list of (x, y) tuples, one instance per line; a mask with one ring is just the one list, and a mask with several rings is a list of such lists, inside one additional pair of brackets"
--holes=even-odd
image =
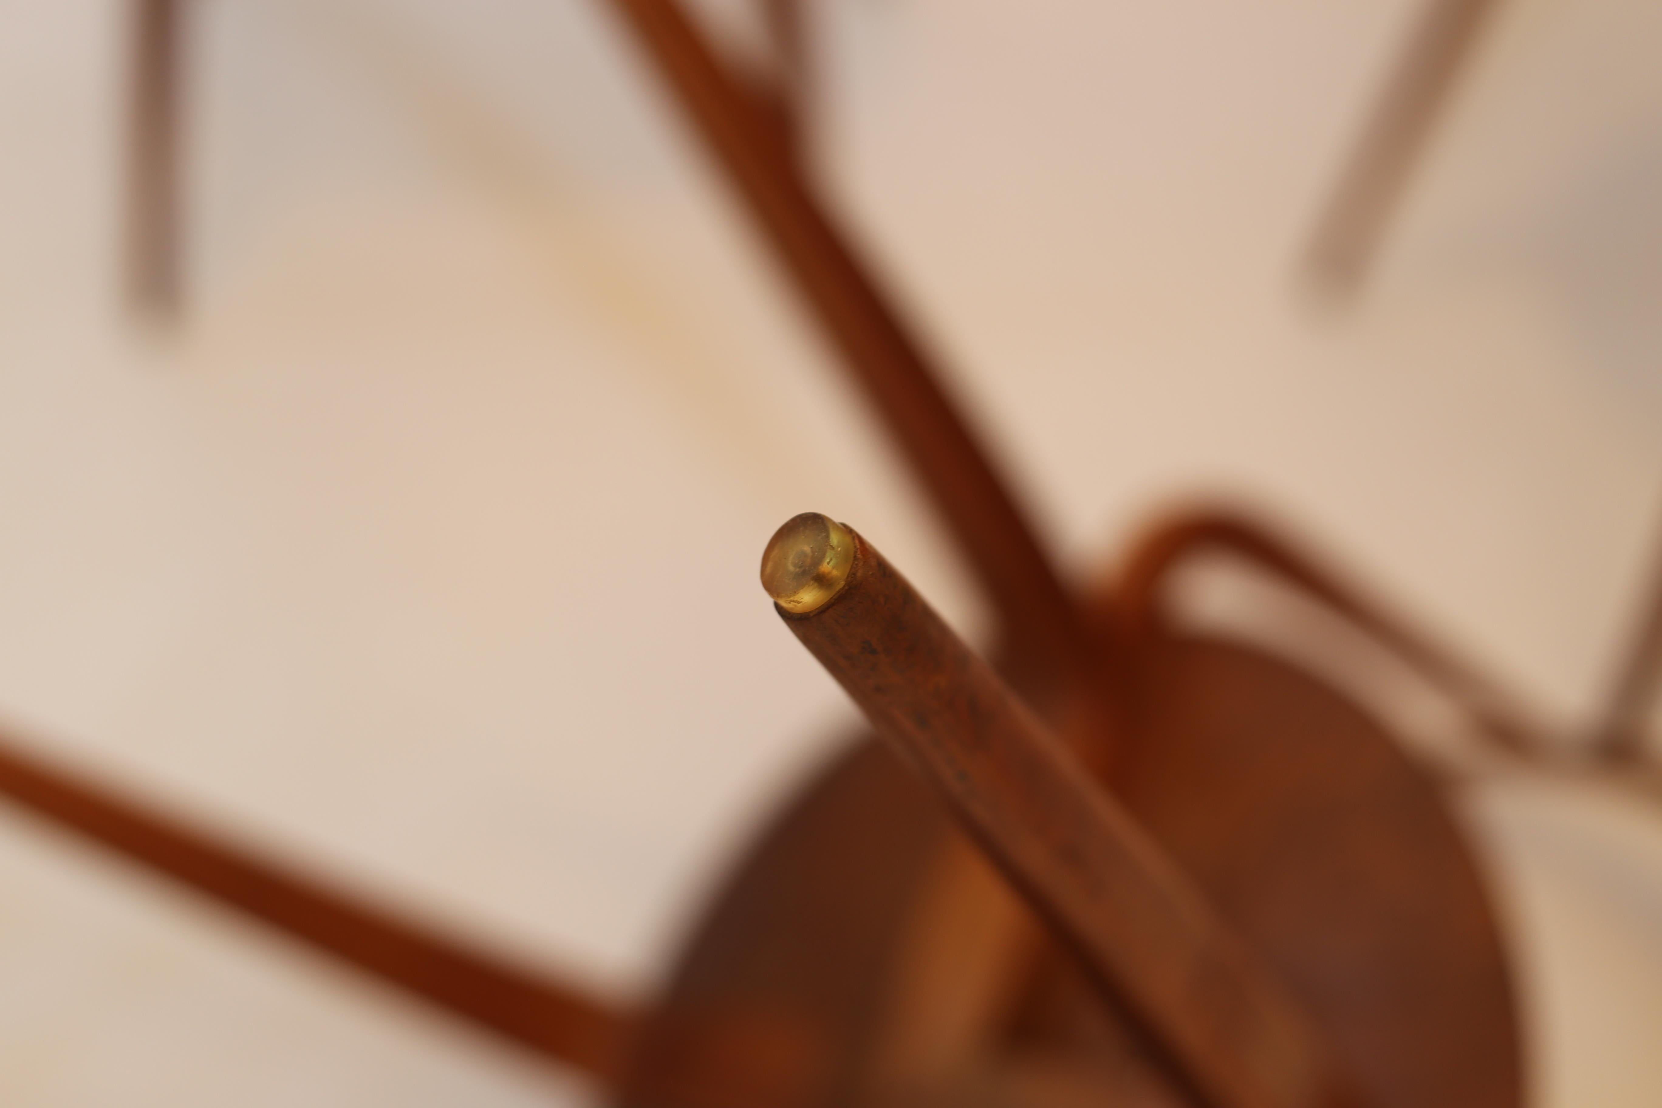
[(126, 181), (126, 294), (148, 316), (173, 316), (183, 294), (179, 143), (186, 0), (136, 0)]

